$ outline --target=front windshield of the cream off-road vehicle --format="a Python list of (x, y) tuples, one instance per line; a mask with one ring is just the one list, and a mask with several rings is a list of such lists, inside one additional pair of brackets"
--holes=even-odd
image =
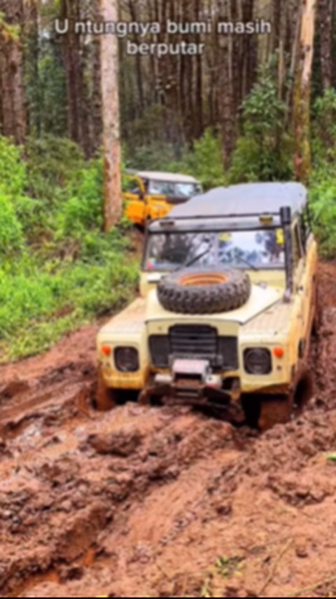
[(155, 233), (148, 238), (146, 270), (183, 266), (284, 268), (283, 229), (217, 233)]

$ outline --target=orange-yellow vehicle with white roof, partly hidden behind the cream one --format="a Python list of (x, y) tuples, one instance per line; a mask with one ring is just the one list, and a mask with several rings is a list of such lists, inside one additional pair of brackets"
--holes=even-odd
[(135, 172), (127, 174), (123, 184), (126, 216), (137, 225), (162, 219), (174, 206), (188, 202), (202, 185), (194, 177), (167, 172)]

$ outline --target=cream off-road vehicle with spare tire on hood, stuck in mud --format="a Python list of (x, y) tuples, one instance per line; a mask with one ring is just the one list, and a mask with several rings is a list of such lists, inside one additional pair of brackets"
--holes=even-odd
[(99, 332), (98, 407), (132, 390), (261, 429), (290, 420), (312, 394), (317, 264), (300, 184), (214, 189), (153, 221), (141, 297)]

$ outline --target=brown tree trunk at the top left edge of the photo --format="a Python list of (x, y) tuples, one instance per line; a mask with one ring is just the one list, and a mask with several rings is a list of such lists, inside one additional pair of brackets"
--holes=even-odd
[[(18, 32), (1, 32), (0, 28), (0, 104), (2, 133), (13, 137), (17, 144), (25, 141), (27, 111), (24, 87), (22, 25), (24, 7), (22, 0), (0, 0), (0, 13), (6, 25), (18, 27)], [(6, 27), (4, 25), (4, 27)]]

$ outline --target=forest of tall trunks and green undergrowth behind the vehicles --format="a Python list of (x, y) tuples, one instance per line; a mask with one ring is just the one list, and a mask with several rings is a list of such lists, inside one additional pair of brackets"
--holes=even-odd
[[(201, 51), (128, 51), (141, 43)], [(1, 357), (133, 293), (139, 256), (120, 195), (104, 210), (120, 185), (106, 164), (205, 188), (301, 179), (335, 256), (335, 44), (336, 0), (0, 0)]]

